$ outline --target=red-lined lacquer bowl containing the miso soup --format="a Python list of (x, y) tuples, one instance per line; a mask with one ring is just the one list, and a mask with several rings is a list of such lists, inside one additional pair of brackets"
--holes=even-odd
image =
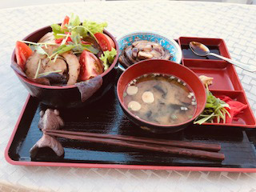
[[(180, 78), (182, 81), (186, 82), (188, 86), (190, 86), (190, 88), (194, 91), (197, 102), (197, 108), (193, 118), (190, 118), (190, 120), (180, 124), (159, 125), (152, 122), (146, 122), (145, 120), (136, 117), (130, 112), (130, 110), (126, 108), (126, 106), (124, 106), (122, 95), (126, 90), (128, 83), (134, 80), (134, 78), (138, 78), (143, 74), (152, 73), (174, 75)], [(151, 132), (159, 134), (174, 133), (189, 126), (192, 122), (194, 122), (194, 119), (202, 113), (202, 110), (204, 110), (206, 105), (206, 89), (198, 76), (186, 66), (162, 59), (145, 60), (130, 66), (120, 76), (118, 80), (118, 101), (120, 102), (122, 110), (128, 116), (128, 118), (130, 118), (132, 122), (140, 126), (142, 129), (150, 130)]]

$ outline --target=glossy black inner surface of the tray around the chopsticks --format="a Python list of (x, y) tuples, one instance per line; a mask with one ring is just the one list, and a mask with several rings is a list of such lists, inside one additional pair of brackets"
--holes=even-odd
[(256, 168), (256, 131), (234, 127), (189, 127), (175, 134), (150, 134), (128, 120), (118, 104), (114, 86), (103, 98), (81, 109), (60, 110), (66, 122), (64, 130), (90, 131), (104, 134), (125, 134), (149, 138), (170, 138), (182, 141), (219, 143), (226, 158), (223, 162), (186, 158), (122, 146), (107, 146), (92, 142), (79, 142), (58, 138), (64, 146), (64, 157), (58, 158), (50, 149), (38, 151), (30, 158), (30, 148), (42, 137), (38, 129), (40, 110), (46, 106), (30, 98), (9, 150), (14, 161), (81, 162), (102, 164), (152, 165), (152, 166), (211, 166)]

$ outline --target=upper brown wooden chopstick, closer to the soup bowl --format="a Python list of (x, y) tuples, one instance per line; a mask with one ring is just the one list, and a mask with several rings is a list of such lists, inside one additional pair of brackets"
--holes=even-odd
[(57, 134), (72, 134), (78, 136), (88, 136), (95, 138), (114, 138), (124, 141), (132, 141), (132, 142), (145, 142), (152, 144), (159, 144), (165, 146), (177, 146), (182, 148), (189, 148), (194, 150), (210, 150), (210, 151), (219, 151), (221, 150), (221, 145), (219, 144), (210, 144), (210, 143), (202, 143), (202, 142), (184, 142), (184, 141), (174, 141), (174, 140), (165, 140), (158, 138), (141, 138), (134, 136), (126, 136), (126, 135), (115, 135), (115, 134), (95, 134), (95, 133), (86, 133), (86, 132), (77, 132), (77, 131), (68, 131), (68, 130), (46, 130), (49, 133), (57, 133)]

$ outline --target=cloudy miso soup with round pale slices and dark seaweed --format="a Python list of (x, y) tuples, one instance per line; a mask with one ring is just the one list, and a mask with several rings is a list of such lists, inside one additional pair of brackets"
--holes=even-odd
[(169, 74), (144, 74), (131, 81), (124, 105), (147, 122), (174, 125), (193, 118), (196, 98), (186, 82)]

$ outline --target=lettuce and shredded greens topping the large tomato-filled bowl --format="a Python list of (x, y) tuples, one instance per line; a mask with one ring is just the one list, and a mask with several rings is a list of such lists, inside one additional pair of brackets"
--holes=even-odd
[[(94, 36), (94, 34), (103, 33), (103, 30), (106, 26), (106, 22), (99, 23), (88, 20), (81, 22), (80, 18), (77, 15), (71, 14), (69, 22), (66, 23), (65, 26), (60, 26), (58, 24), (51, 25), (55, 42), (20, 42), (29, 44), (31, 50), (35, 50), (38, 54), (46, 55), (47, 58), (49, 58), (53, 62), (56, 62), (60, 54), (63, 54), (70, 50), (72, 50), (74, 54), (81, 54), (83, 50), (88, 50), (93, 54), (98, 54), (99, 50), (94, 48), (93, 45), (84, 42), (83, 39), (85, 39), (86, 37), (91, 37), (94, 38), (96, 42), (98, 42), (98, 39)], [(52, 54), (46, 52), (47, 46), (56, 46)], [(110, 63), (114, 61), (114, 57), (116, 56), (116, 54), (117, 51), (114, 48), (112, 48), (112, 50), (110, 51), (106, 50), (103, 52), (100, 59), (102, 60), (102, 63), (104, 65), (104, 70), (107, 70), (109, 68)], [(42, 61), (40, 59), (34, 79), (40, 78), (47, 74), (61, 72), (61, 70), (54, 70), (38, 74), (41, 65)]]

